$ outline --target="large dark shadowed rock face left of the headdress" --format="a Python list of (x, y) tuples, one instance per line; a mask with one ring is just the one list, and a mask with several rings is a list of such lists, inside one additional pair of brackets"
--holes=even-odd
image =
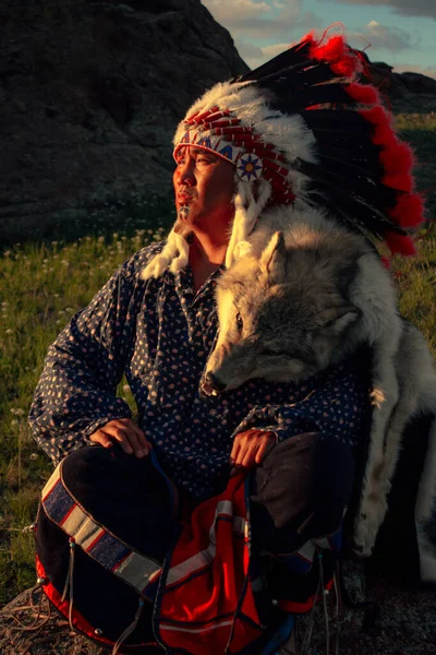
[(3, 0), (0, 241), (168, 190), (171, 138), (247, 67), (201, 0)]

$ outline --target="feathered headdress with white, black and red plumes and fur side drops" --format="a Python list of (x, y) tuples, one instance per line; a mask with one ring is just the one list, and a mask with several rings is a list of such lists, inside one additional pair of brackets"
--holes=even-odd
[[(377, 91), (359, 83), (362, 56), (342, 35), (323, 41), (311, 33), (256, 70), (215, 85), (175, 131), (174, 157), (195, 145), (235, 167), (227, 266), (266, 205), (324, 207), (392, 253), (414, 253), (408, 229), (423, 221), (423, 202), (413, 193), (412, 151), (396, 135)], [(175, 222), (145, 277), (186, 264), (187, 229)]]

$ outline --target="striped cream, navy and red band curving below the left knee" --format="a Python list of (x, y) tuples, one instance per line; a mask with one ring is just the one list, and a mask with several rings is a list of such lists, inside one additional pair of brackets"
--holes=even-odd
[(43, 489), (47, 516), (107, 571), (118, 575), (141, 596), (161, 573), (154, 560), (140, 555), (94, 521), (73, 498), (62, 479), (62, 462)]

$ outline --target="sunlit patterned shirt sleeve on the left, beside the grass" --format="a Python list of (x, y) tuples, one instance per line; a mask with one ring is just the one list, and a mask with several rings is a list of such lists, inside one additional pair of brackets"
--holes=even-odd
[(117, 397), (117, 385), (131, 342), (135, 283), (128, 265), (121, 267), (48, 350), (29, 424), (55, 464), (90, 443), (87, 438), (108, 421), (131, 417), (129, 405)]

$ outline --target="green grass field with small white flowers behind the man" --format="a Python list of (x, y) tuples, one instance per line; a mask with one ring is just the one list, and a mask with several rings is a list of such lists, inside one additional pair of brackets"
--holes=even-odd
[[(436, 218), (436, 117), (400, 115), (398, 127), (420, 160), (419, 189)], [(16, 243), (0, 254), (0, 607), (35, 582), (33, 536), (38, 495), (52, 471), (27, 426), (27, 413), (49, 344), (136, 250), (160, 240), (173, 221), (166, 200), (108, 205), (85, 227), (55, 240)], [(73, 229), (74, 228), (74, 229)], [(81, 235), (82, 229), (82, 235)], [(419, 257), (393, 267), (404, 315), (436, 354), (436, 235), (423, 234)], [(129, 390), (120, 385), (129, 400)]]

